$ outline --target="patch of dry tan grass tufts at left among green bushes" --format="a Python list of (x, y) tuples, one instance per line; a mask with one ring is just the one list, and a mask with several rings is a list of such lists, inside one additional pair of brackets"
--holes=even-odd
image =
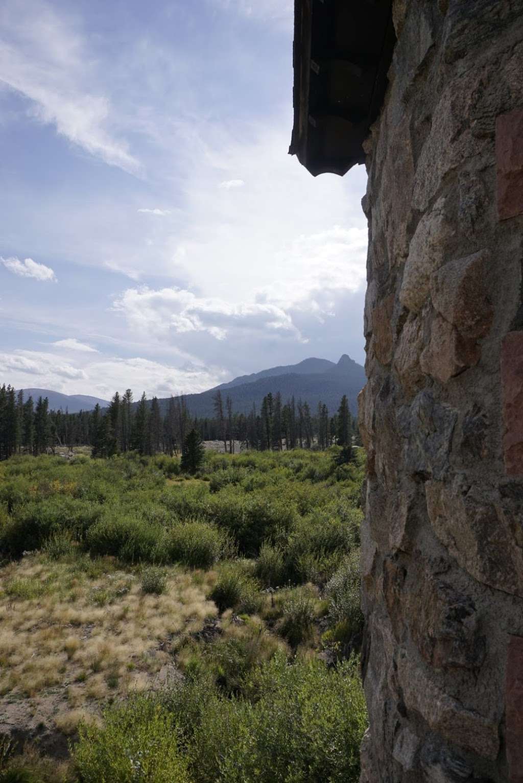
[(206, 579), (199, 586), (175, 568), (165, 569), (165, 579), (164, 594), (145, 594), (139, 576), (117, 570), (111, 558), (35, 554), (0, 568), (0, 695), (38, 706), (61, 687), (56, 725), (67, 734), (85, 705), (150, 687), (168, 658), (161, 649), (216, 615)]

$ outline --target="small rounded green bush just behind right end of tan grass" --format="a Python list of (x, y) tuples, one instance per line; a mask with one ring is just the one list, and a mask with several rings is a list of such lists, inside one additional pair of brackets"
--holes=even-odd
[(164, 543), (168, 562), (178, 562), (189, 568), (212, 568), (222, 556), (227, 541), (222, 532), (206, 522), (189, 521), (175, 525)]

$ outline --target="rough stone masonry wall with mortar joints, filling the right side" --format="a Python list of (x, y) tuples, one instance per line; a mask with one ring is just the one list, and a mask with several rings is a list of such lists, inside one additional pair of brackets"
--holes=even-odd
[(362, 783), (523, 783), (523, 0), (396, 0), (366, 143)]

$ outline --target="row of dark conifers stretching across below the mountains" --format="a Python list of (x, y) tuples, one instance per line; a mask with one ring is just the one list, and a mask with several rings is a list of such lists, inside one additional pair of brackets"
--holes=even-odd
[(130, 451), (142, 455), (182, 453), (189, 432), (201, 440), (219, 440), (226, 452), (243, 448), (263, 451), (313, 447), (325, 449), (336, 443), (350, 449), (358, 439), (355, 419), (344, 395), (337, 411), (330, 415), (319, 402), (312, 412), (308, 402), (294, 397), (283, 402), (280, 392), (269, 392), (257, 410), (236, 413), (229, 395), (217, 391), (214, 417), (191, 417), (183, 397), (171, 397), (162, 415), (157, 397), (145, 393), (134, 402), (131, 389), (118, 392), (106, 409), (99, 405), (80, 413), (50, 411), (49, 400), (23, 398), (23, 391), (5, 384), (0, 387), (0, 460), (16, 453), (34, 456), (57, 447), (91, 446), (92, 456), (112, 456)]

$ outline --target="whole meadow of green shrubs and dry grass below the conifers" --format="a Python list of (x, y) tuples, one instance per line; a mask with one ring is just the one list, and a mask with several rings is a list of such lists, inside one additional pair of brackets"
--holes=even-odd
[(357, 781), (364, 457), (340, 456), (0, 463), (0, 783)]

